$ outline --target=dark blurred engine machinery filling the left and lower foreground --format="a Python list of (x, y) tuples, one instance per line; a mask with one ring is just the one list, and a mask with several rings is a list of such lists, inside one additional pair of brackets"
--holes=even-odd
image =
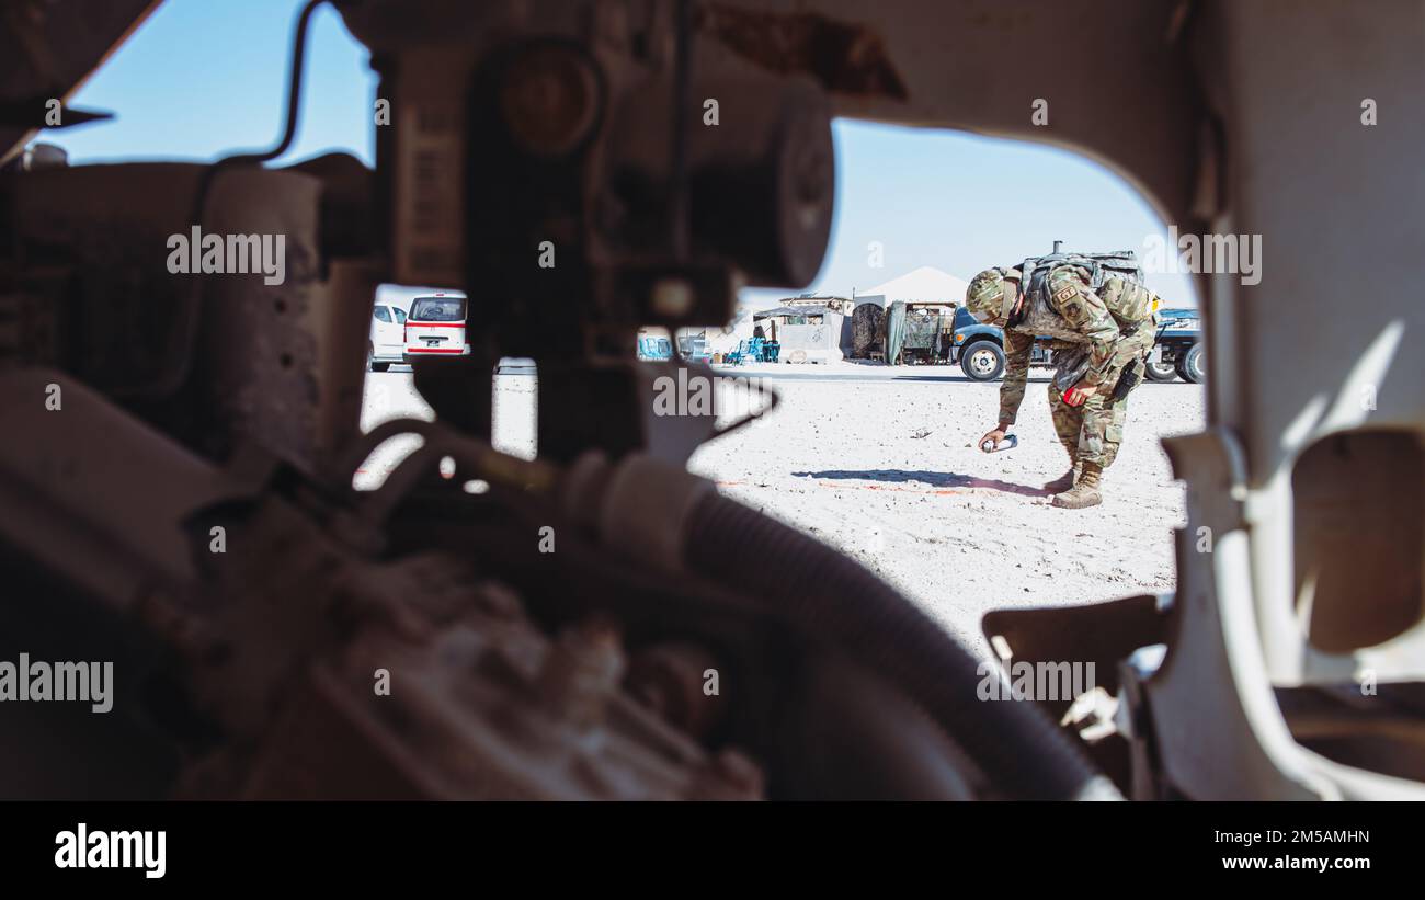
[[(63, 6), (7, 36), (58, 54), (17, 94), (63, 97), (144, 13), (64, 44)], [(1116, 796), (891, 588), (690, 476), (711, 414), (654, 414), (658, 376), (711, 370), (634, 360), (640, 326), (821, 265), (828, 85), (721, 47), (711, 7), (336, 6), (389, 103), (373, 172), (261, 167), (298, 81), (266, 154), (0, 181), (0, 658), (117, 681), (107, 715), (0, 708), (3, 792)], [(281, 235), (282, 275), (197, 273), (232, 235)], [(436, 422), (362, 436), (382, 281), (480, 285), (475, 346), (418, 365)], [(533, 461), (490, 447), (502, 356), (539, 365)]]

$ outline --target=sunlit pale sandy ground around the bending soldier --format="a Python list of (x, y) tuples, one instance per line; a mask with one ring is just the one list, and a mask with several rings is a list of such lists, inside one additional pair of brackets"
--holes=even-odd
[[(956, 367), (772, 365), (725, 375), (762, 379), (781, 403), (705, 444), (690, 469), (855, 557), (982, 652), (988, 609), (1174, 587), (1171, 530), (1183, 524), (1184, 488), (1159, 440), (1201, 427), (1198, 386), (1140, 386), (1103, 506), (1070, 511), (1042, 490), (1067, 467), (1049, 422), (1047, 370), (1030, 373), (1019, 446), (993, 454), (975, 441), (995, 424), (999, 384), (969, 382)], [(496, 443), (532, 456), (534, 379), (497, 377), (494, 400)], [(363, 427), (398, 414), (430, 414), (410, 376), (368, 376)], [(388, 441), (356, 486), (379, 484), (412, 446)]]

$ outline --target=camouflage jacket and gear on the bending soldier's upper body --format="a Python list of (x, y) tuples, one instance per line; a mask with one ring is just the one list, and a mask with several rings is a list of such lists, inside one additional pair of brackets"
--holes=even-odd
[(1087, 269), (1072, 265), (1053, 269), (1039, 296), (1025, 298), (1019, 318), (1005, 326), (999, 420), (1013, 423), (1019, 413), (1037, 335), (1049, 335), (1056, 343), (1087, 345), (1089, 367), (1083, 380), (1103, 384), (1117, 379), (1130, 360), (1153, 350), (1159, 302), (1157, 295), (1130, 279), (1113, 276), (1096, 293), (1089, 289)]

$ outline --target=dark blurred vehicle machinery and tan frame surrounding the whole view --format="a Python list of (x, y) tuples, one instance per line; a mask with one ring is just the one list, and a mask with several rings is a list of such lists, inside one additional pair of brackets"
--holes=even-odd
[[(0, 658), (111, 659), (117, 696), (0, 708), (4, 796), (1419, 793), (1425, 363), (1395, 347), (1425, 228), (1379, 218), (1425, 199), (1419, 4), (338, 1), (389, 108), (373, 172), (20, 157), (154, 4), (74, 34), (77, 6), (0, 31)], [(1003, 48), (1067, 36), (1033, 127), (1062, 60)], [(986, 619), (1113, 672), (1069, 716), (1092, 741), (982, 702), (895, 591), (687, 474), (711, 416), (653, 412), (710, 372), (634, 360), (638, 328), (815, 275), (834, 114), (1072, 147), (1183, 231), (1263, 235), (1260, 285), (1200, 279), (1177, 595)], [(285, 278), (174, 273), (188, 234), (282, 235)], [(383, 281), (465, 288), (475, 346), (418, 365), (436, 422), (362, 436)], [(1342, 296), (1371, 298), (1349, 353), (1311, 326)], [(502, 356), (537, 362), (537, 460), (490, 447)]]

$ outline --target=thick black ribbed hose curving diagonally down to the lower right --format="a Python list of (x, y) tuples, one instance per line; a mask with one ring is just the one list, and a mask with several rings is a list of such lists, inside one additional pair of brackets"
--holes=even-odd
[(980, 701), (975, 656), (854, 560), (718, 494), (701, 500), (688, 524), (684, 562), (691, 570), (775, 605), (888, 678), (1009, 796), (1116, 796), (1082, 748), (1033, 703)]

